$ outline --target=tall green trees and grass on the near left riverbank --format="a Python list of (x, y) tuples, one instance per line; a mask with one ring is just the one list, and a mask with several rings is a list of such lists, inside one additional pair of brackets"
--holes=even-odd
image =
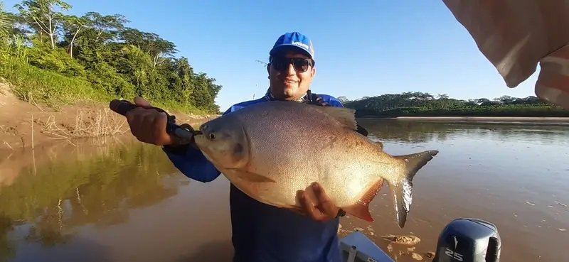
[(62, 0), (23, 0), (14, 13), (0, 6), (0, 77), (18, 97), (55, 104), (139, 95), (167, 109), (219, 111), (221, 86), (175, 58), (174, 43), (128, 27), (120, 14), (73, 16), (71, 8)]

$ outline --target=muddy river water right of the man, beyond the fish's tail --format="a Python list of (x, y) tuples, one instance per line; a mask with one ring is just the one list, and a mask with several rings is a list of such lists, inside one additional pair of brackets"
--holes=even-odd
[[(372, 239), (388, 250), (386, 234), (415, 234), (418, 252), (434, 251), (437, 236), (457, 217), (478, 217), (501, 232), (502, 260), (568, 261), (569, 126), (358, 119), (384, 150), (395, 155), (436, 149), (440, 153), (413, 180), (413, 207), (405, 229), (395, 224), (388, 188), (371, 203)], [(557, 204), (562, 203), (562, 204)], [(344, 228), (366, 229), (347, 218)], [(367, 231), (367, 230), (366, 230)], [(398, 261), (402, 256), (392, 247)]]

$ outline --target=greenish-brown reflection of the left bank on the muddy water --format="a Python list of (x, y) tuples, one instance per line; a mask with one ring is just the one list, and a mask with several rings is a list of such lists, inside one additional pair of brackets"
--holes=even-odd
[[(134, 141), (112, 146), (68, 144), (41, 153), (46, 156), (42, 163), (13, 170), (17, 176), (11, 185), (0, 187), (4, 261), (16, 253), (8, 240), (16, 224), (20, 230), (11, 236), (13, 241), (56, 246), (73, 238), (74, 227), (127, 222), (128, 209), (161, 202), (178, 192), (175, 168), (153, 146)], [(30, 152), (27, 155), (33, 158)]]

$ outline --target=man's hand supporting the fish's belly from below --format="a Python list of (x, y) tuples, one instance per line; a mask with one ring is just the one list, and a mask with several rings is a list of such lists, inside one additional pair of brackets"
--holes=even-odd
[(338, 214), (339, 207), (331, 202), (318, 182), (312, 183), (307, 190), (299, 190), (297, 197), (302, 207), (300, 212), (315, 221), (328, 222)]

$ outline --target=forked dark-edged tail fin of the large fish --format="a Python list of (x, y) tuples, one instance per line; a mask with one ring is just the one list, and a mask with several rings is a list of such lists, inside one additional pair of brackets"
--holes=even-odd
[(410, 155), (395, 155), (394, 158), (403, 160), (405, 164), (405, 175), (399, 180), (387, 180), (391, 195), (393, 196), (393, 206), (399, 227), (403, 229), (407, 221), (411, 202), (413, 200), (413, 178), (417, 171), (429, 162), (439, 151), (423, 151)]

